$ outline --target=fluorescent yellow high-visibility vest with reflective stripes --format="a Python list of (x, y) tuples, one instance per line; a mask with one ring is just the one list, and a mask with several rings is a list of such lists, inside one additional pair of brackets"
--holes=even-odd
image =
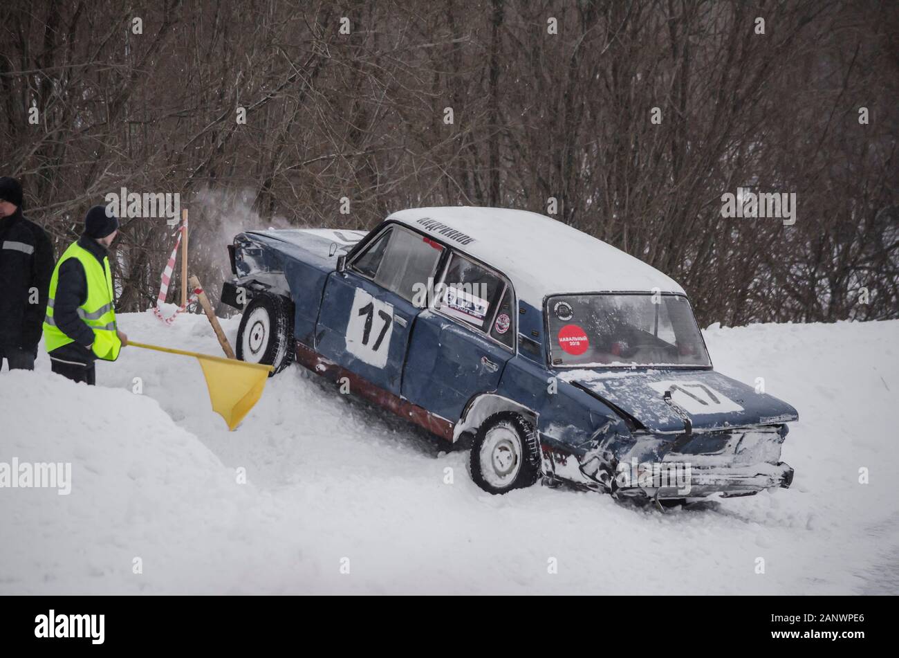
[(114, 361), (119, 358), (121, 341), (116, 333), (115, 309), (112, 307), (112, 272), (110, 262), (103, 256), (102, 264), (97, 257), (87, 251), (78, 243), (72, 243), (57, 262), (50, 279), (49, 298), (47, 301), (47, 316), (44, 318), (44, 345), (47, 351), (54, 351), (63, 345), (74, 342), (65, 333), (59, 330), (56, 320), (53, 319), (53, 304), (56, 298), (57, 283), (59, 281), (59, 266), (69, 258), (76, 258), (85, 268), (87, 280), (87, 299), (77, 309), (85, 325), (93, 330), (93, 353), (99, 359)]

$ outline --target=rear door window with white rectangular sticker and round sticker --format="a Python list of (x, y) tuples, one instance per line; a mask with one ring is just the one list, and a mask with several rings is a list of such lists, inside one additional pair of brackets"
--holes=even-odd
[(512, 347), (512, 290), (502, 276), (453, 253), (441, 283), (437, 310)]

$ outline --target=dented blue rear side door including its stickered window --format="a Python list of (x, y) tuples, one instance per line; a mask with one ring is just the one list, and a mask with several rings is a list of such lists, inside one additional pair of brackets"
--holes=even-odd
[(457, 422), (469, 399), (499, 385), (515, 348), (514, 307), (502, 274), (451, 253), (431, 307), (415, 320), (403, 396)]

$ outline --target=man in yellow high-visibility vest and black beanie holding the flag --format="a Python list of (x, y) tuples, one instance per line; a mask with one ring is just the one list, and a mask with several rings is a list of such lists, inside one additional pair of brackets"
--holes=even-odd
[(119, 219), (106, 206), (85, 216), (85, 232), (60, 256), (44, 318), (44, 344), (50, 367), (64, 377), (93, 385), (96, 359), (114, 361), (128, 344), (116, 326), (115, 295), (107, 250), (119, 232)]

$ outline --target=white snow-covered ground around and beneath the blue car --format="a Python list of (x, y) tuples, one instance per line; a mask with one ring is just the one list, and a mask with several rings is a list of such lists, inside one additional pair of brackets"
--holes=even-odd
[[(202, 316), (120, 325), (219, 353)], [(485, 494), (466, 452), (297, 366), (228, 432), (196, 360), (129, 347), (90, 388), (42, 354), (0, 373), (0, 462), (71, 462), (72, 490), (0, 489), (0, 593), (899, 593), (899, 321), (705, 336), (716, 369), (799, 410), (796, 480), (666, 513)]]

